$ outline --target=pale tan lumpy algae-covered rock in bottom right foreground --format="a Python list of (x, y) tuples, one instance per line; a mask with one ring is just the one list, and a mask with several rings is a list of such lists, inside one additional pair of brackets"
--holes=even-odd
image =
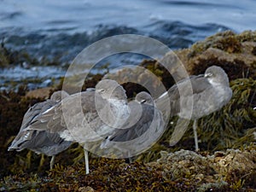
[(209, 188), (229, 191), (255, 189), (255, 149), (255, 145), (252, 145), (243, 150), (228, 149), (212, 155), (183, 149), (174, 153), (162, 151), (157, 164), (164, 167), (163, 174), (169, 179), (189, 178), (200, 191), (208, 191)]

